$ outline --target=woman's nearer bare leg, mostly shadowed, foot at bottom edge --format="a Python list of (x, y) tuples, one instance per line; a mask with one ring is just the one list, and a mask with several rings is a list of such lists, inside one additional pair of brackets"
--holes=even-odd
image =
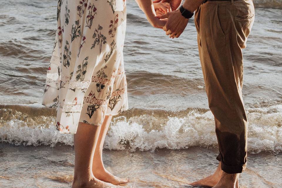
[(73, 188), (105, 188), (117, 187), (113, 184), (100, 181), (92, 173), (92, 162), (97, 145), (100, 126), (79, 123), (74, 135), (74, 177)]

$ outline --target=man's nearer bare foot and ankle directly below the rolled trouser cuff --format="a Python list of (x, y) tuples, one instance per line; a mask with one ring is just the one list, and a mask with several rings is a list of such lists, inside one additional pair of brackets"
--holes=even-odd
[(213, 188), (239, 188), (239, 174), (223, 172), (219, 182)]

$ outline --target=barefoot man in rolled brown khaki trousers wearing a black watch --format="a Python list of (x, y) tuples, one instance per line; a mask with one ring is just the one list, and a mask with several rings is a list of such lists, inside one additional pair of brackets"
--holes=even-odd
[[(175, 10), (182, 0), (163, 2), (169, 2)], [(213, 175), (192, 185), (239, 188), (239, 173), (246, 169), (247, 162), (242, 48), (246, 48), (254, 23), (254, 5), (252, 0), (185, 0), (178, 10), (158, 17), (168, 19), (163, 29), (174, 38), (183, 32), (194, 11), (209, 108), (216, 125), (219, 166)]]

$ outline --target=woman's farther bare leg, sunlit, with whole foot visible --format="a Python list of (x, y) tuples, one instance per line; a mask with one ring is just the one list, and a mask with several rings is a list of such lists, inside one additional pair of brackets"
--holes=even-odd
[(108, 172), (108, 170), (106, 170), (104, 167), (103, 157), (102, 157), (103, 145), (112, 117), (113, 117), (112, 115), (106, 115), (105, 120), (101, 126), (100, 135), (94, 153), (92, 170), (96, 178), (104, 182), (109, 182), (114, 185), (118, 185), (118, 184), (128, 183), (129, 179), (119, 178)]

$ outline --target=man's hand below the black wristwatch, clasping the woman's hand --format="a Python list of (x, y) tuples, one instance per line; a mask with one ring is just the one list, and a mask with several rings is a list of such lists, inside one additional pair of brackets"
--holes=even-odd
[(188, 24), (189, 19), (186, 19), (181, 15), (179, 10), (168, 12), (167, 14), (157, 15), (160, 19), (166, 19), (167, 23), (163, 27), (163, 30), (169, 35), (170, 38), (178, 38), (184, 31)]

